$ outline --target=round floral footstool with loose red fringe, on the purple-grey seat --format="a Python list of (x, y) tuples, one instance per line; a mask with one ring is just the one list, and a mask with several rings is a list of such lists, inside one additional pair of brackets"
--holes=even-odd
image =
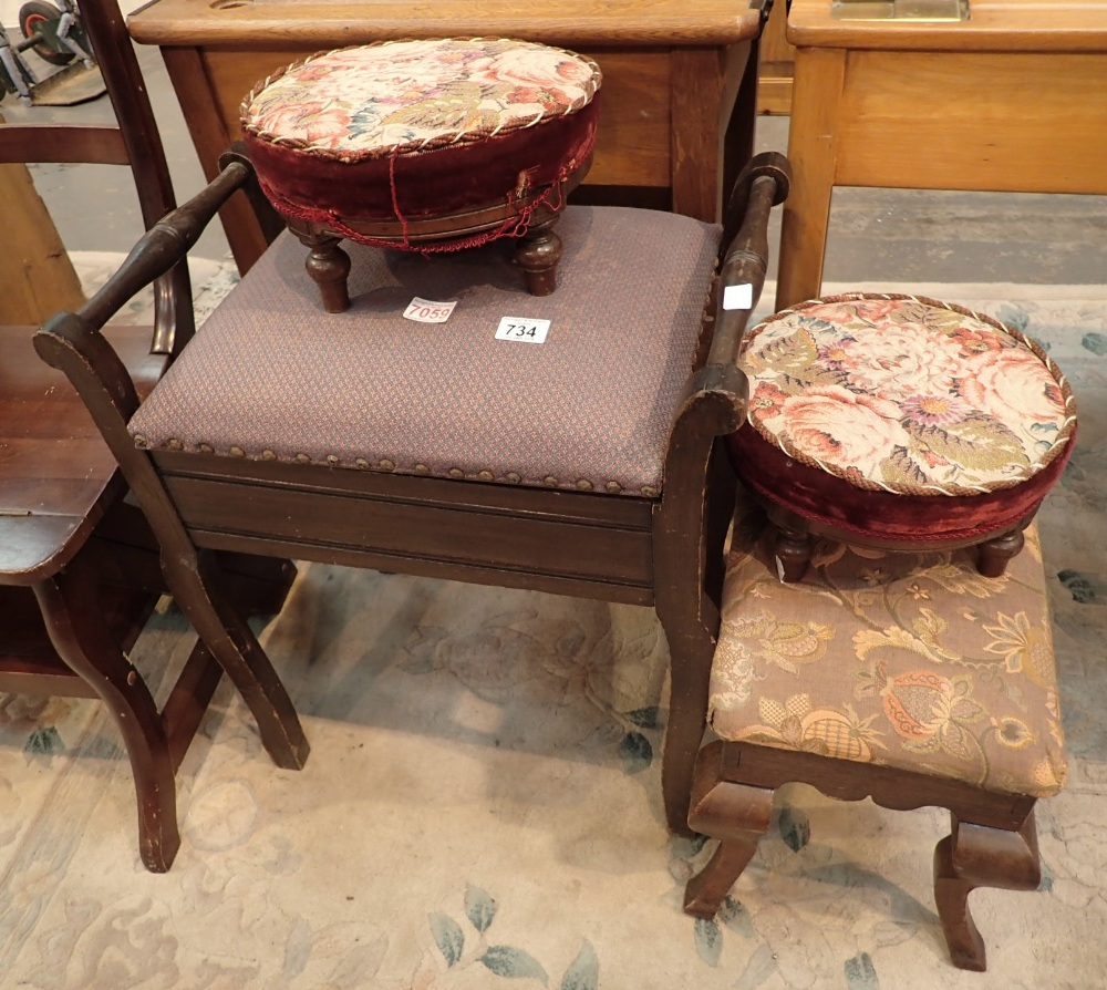
[(349, 306), (341, 238), (423, 252), (519, 238), (527, 288), (545, 296), (600, 81), (590, 59), (531, 42), (390, 41), (282, 69), (246, 97), (241, 124), (328, 311)]

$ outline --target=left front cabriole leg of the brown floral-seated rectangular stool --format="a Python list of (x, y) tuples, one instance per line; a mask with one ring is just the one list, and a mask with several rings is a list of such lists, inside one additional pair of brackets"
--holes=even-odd
[(707, 865), (684, 888), (684, 912), (697, 918), (713, 918), (718, 911), (773, 816), (773, 792), (724, 781), (722, 754), (721, 742), (701, 751), (689, 812), (692, 828), (720, 839)]

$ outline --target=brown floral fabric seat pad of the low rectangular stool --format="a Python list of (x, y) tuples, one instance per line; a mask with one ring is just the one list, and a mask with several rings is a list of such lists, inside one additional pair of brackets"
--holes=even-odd
[(738, 525), (708, 720), (720, 736), (1044, 797), (1066, 756), (1036, 526), (999, 578), (966, 550), (820, 540), (784, 584)]

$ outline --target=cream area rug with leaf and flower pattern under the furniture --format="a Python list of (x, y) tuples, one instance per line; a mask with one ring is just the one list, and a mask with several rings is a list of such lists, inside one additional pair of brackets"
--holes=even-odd
[[(167, 875), (138, 863), (130, 772), (100, 707), (0, 695), (0, 982), (1103, 986), (1107, 293), (914, 288), (1046, 343), (1082, 417), (1039, 516), (1070, 783), (1038, 806), (1042, 889), (973, 895), (986, 974), (946, 956), (931, 889), (948, 831), (937, 809), (785, 788), (721, 917), (681, 912), (710, 848), (663, 825), (666, 648), (649, 610), (303, 566), (261, 636), (303, 718), (308, 765), (271, 765), (225, 681), (178, 776), (183, 845)], [(134, 658), (164, 689), (190, 644), (167, 605)]]

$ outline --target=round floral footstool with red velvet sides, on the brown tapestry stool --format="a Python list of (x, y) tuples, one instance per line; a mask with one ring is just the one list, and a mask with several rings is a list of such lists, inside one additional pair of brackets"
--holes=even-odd
[(1076, 408), (1038, 344), (933, 299), (815, 299), (749, 331), (734, 465), (798, 580), (813, 537), (893, 550), (977, 548), (1003, 573), (1072, 452)]

